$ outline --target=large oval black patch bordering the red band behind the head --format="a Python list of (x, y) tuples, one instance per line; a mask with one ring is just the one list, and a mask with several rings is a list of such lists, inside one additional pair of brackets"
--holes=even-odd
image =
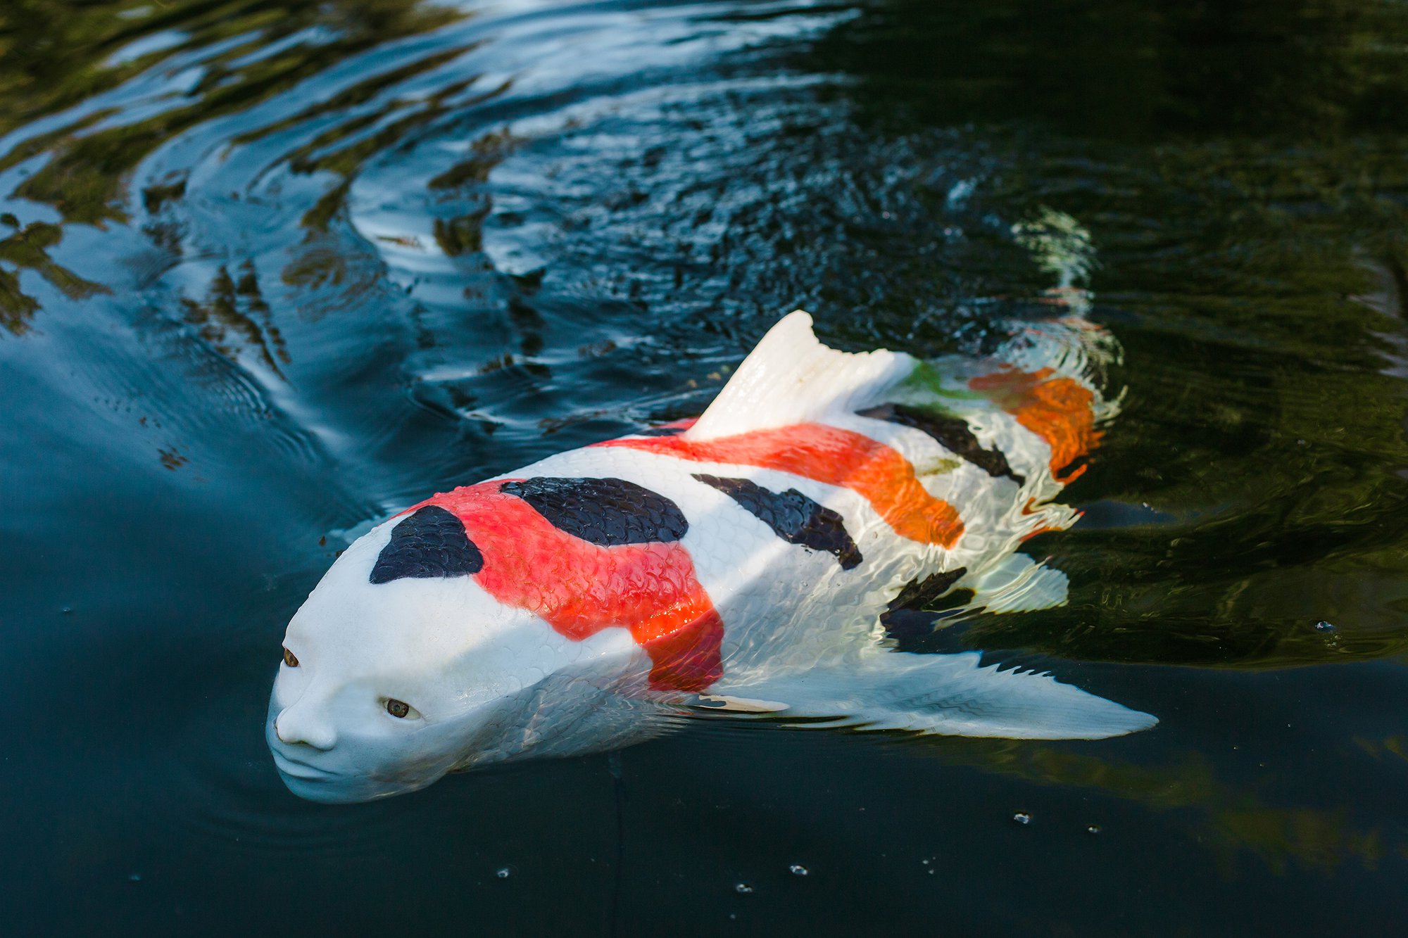
[(690, 530), (680, 506), (625, 479), (536, 476), (498, 490), (531, 504), (559, 531), (601, 546), (679, 541)]

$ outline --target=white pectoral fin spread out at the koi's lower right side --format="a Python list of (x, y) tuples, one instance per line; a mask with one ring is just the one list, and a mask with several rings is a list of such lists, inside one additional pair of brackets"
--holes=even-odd
[(821, 718), (807, 727), (908, 730), (1008, 739), (1104, 739), (1159, 723), (1156, 717), (1063, 684), (1049, 675), (979, 665), (979, 652), (914, 655), (867, 649), (859, 658), (800, 675), (719, 687), (781, 701), (772, 715)]

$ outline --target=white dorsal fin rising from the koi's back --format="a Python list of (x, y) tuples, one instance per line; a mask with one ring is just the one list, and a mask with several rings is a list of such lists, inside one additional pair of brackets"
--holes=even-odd
[(732, 437), (817, 421), (880, 403), (914, 370), (903, 352), (838, 352), (811, 331), (811, 315), (788, 313), (758, 342), (734, 377), (683, 435)]

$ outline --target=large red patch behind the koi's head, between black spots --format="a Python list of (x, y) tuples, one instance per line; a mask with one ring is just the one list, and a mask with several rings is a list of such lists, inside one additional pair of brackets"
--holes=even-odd
[(541, 615), (583, 641), (620, 625), (650, 656), (650, 687), (700, 693), (724, 675), (724, 623), (680, 544), (600, 546), (555, 528), (517, 496), (482, 482), (438, 494), (484, 555), (474, 573), (505, 606)]

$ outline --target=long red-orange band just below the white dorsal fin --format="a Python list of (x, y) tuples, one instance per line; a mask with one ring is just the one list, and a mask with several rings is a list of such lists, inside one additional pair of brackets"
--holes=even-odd
[(694, 462), (722, 462), (790, 472), (860, 494), (900, 537), (952, 548), (963, 520), (948, 501), (931, 496), (900, 451), (865, 434), (825, 424), (793, 424), (714, 439), (650, 437), (608, 439), (597, 446), (628, 446)]

